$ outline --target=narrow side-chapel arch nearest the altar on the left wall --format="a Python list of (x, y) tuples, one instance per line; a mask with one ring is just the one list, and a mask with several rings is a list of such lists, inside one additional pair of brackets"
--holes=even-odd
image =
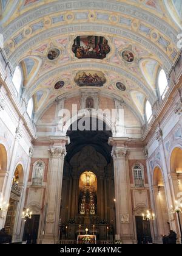
[(5, 220), (5, 233), (8, 235), (13, 235), (13, 230), (15, 226), (15, 219), (19, 215), (19, 202), (21, 199), (21, 189), (22, 183), (24, 180), (24, 173), (22, 165), (16, 166), (13, 180), (12, 180), (12, 189), (10, 193), (10, 200), (8, 204), (8, 211)]

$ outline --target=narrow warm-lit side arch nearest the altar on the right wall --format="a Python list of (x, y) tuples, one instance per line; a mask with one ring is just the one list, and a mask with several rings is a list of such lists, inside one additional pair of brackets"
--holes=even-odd
[(169, 215), (167, 210), (166, 192), (164, 188), (163, 172), (160, 167), (155, 167), (153, 171), (153, 197), (155, 202), (155, 215), (158, 227), (158, 241), (161, 235), (169, 233)]

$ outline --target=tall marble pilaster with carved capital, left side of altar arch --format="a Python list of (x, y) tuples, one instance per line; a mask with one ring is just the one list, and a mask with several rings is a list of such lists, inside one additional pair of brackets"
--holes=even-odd
[(61, 207), (62, 174), (64, 157), (66, 156), (67, 139), (56, 143), (49, 149), (49, 171), (47, 177), (47, 190), (45, 193), (45, 227), (42, 230), (41, 243), (58, 243), (59, 241), (59, 215)]

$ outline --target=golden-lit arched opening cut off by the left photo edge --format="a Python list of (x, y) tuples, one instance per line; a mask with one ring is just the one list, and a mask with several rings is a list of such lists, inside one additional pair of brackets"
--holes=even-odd
[(7, 171), (7, 152), (4, 145), (0, 144), (0, 199), (4, 187), (5, 172)]

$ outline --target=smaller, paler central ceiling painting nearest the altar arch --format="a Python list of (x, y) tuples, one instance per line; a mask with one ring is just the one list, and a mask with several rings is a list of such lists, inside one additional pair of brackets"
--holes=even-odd
[(75, 82), (78, 86), (102, 87), (106, 83), (106, 77), (101, 71), (79, 71), (76, 74)]

